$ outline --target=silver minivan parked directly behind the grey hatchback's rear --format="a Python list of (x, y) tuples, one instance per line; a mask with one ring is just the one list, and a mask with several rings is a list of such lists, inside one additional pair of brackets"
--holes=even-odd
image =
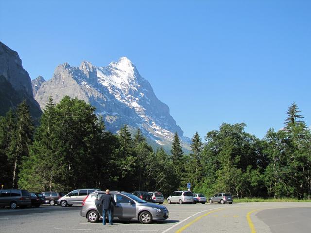
[(82, 204), (83, 200), (86, 198), (87, 195), (91, 194), (92, 192), (100, 191), (99, 189), (77, 189), (73, 190), (72, 192), (64, 195), (60, 199), (57, 200), (57, 204), (61, 205), (62, 207), (65, 206), (72, 206), (73, 204)]

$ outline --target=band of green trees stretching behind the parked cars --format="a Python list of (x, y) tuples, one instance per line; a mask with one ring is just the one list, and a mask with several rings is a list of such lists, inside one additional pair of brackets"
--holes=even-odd
[(184, 154), (175, 133), (171, 153), (154, 151), (138, 128), (118, 135), (105, 130), (95, 108), (83, 100), (52, 98), (38, 126), (26, 102), (0, 116), (0, 183), (29, 191), (76, 188), (161, 191), (186, 189), (207, 196), (231, 192), (242, 197), (310, 199), (311, 132), (294, 102), (284, 128), (260, 140), (246, 125), (223, 123), (204, 141), (192, 138)]

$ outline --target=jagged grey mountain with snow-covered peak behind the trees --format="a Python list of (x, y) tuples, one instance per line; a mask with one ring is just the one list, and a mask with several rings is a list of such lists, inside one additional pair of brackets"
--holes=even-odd
[(82, 62), (79, 67), (64, 63), (56, 67), (52, 79), (39, 76), (32, 81), (33, 93), (43, 109), (52, 96), (59, 102), (65, 95), (85, 100), (103, 116), (106, 128), (116, 133), (124, 124), (133, 131), (140, 128), (158, 145), (170, 145), (175, 132), (189, 148), (189, 138), (170, 115), (169, 107), (155, 96), (150, 83), (126, 57), (106, 67)]

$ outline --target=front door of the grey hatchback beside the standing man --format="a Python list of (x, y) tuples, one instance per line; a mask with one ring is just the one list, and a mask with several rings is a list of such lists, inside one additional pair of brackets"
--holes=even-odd
[(121, 194), (115, 194), (114, 199), (117, 204), (113, 210), (114, 217), (134, 218), (136, 216), (136, 204), (133, 200)]

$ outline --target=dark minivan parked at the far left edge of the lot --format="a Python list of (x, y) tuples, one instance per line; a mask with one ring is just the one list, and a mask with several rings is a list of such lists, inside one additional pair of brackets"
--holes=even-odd
[(24, 208), (31, 205), (31, 196), (27, 190), (3, 189), (0, 190), (0, 206), (10, 206), (16, 209), (17, 206)]

